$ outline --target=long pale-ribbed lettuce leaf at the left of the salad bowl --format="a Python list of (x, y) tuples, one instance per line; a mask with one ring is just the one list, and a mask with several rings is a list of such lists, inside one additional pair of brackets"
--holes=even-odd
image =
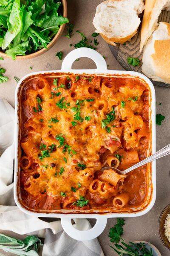
[(23, 8), (20, 7), (20, 0), (14, 0), (11, 13), (7, 19), (8, 30), (4, 37), (2, 49), (6, 49), (23, 27)]

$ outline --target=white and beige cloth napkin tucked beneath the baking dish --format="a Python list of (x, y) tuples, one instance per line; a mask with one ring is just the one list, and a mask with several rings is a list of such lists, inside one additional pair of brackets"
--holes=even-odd
[[(61, 221), (46, 222), (22, 212), (14, 202), (14, 108), (0, 99), (0, 230), (44, 237), (42, 256), (104, 256), (97, 239), (77, 241), (62, 229)], [(86, 219), (74, 219), (78, 230), (91, 228)]]

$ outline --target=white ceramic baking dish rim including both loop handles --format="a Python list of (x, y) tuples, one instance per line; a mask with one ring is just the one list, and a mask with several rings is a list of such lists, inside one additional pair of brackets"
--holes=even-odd
[[(74, 70), (72, 69), (72, 64), (77, 58), (81, 57), (87, 57), (91, 58), (95, 64), (96, 69), (89, 69), (89, 70)], [(27, 209), (23, 208), (18, 201), (17, 198), (17, 173), (18, 173), (18, 132), (19, 132), (19, 119), (18, 119), (18, 90), (20, 87), (20, 84), (22, 81), (28, 76), (37, 75), (37, 74), (44, 74), (44, 73), (74, 73), (74, 74), (95, 74), (95, 75), (129, 75), (132, 76), (138, 76), (141, 79), (144, 79), (146, 83), (150, 87), (151, 91), (151, 120), (152, 120), (152, 145), (151, 145), (151, 151), (152, 154), (156, 151), (156, 124), (155, 124), (155, 110), (156, 110), (156, 100), (155, 100), (155, 89), (153, 87), (152, 82), (143, 74), (133, 72), (133, 71), (118, 71), (118, 70), (108, 70), (107, 64), (105, 62), (105, 59), (102, 57), (102, 55), (99, 54), (99, 52), (96, 52), (93, 49), (89, 48), (79, 48), (74, 49), (73, 51), (69, 52), (68, 55), (65, 57), (65, 59), (62, 62), (62, 68), (61, 70), (51, 70), (51, 71), (41, 71), (41, 72), (33, 72), (29, 73), (28, 75), (24, 76), (19, 83), (17, 84), (16, 91), (15, 91), (15, 172), (14, 172), (14, 199), (17, 204), (17, 206), (26, 214), (28, 215), (34, 215), (37, 217), (56, 217), (61, 218), (61, 224), (65, 232), (71, 236), (72, 238), (80, 241), (85, 240), (91, 240), (99, 236), (102, 231), (105, 229), (105, 226), (107, 224), (107, 218), (125, 218), (125, 217), (138, 217), (141, 215), (146, 214), (150, 211), (150, 209), (153, 207), (155, 200), (156, 200), (156, 161), (152, 162), (152, 185), (153, 185), (153, 194), (152, 194), (152, 200), (150, 201), (150, 204), (147, 205), (147, 207), (140, 211), (140, 212), (131, 212), (131, 213), (105, 213), (105, 214), (77, 214), (77, 213), (69, 213), (69, 214), (63, 214), (63, 213), (37, 213), (37, 212), (31, 212)], [(96, 218), (96, 224), (93, 228), (87, 231), (80, 231), (74, 228), (74, 226), (71, 224), (72, 218)]]

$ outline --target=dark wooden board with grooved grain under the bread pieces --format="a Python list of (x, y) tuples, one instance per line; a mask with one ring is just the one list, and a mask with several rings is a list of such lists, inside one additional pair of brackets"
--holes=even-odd
[[(170, 23), (170, 11), (163, 11), (161, 12), (161, 15), (159, 16), (159, 22), (164, 21)], [(131, 70), (136, 72), (141, 72), (141, 66), (142, 66), (142, 53), (139, 52), (140, 48), (140, 30), (141, 26), (139, 27), (139, 32), (130, 40), (127, 41), (125, 45), (123, 44), (117, 44), (116, 46), (110, 45), (109, 48), (111, 49), (111, 52), (113, 53), (116, 60), (119, 62), (119, 64), (122, 65), (122, 67), (125, 70)], [(139, 58), (141, 61), (140, 66), (133, 67), (132, 65), (127, 64), (127, 58), (128, 57), (133, 58)], [(153, 81), (150, 79), (154, 85), (161, 86), (161, 87), (170, 87), (170, 84), (165, 84), (162, 82)]]

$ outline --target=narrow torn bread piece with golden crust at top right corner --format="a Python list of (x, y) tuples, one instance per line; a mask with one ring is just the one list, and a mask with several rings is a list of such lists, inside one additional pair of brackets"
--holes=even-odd
[(152, 35), (162, 9), (170, 10), (170, 0), (145, 0), (144, 16), (141, 29), (140, 52)]

